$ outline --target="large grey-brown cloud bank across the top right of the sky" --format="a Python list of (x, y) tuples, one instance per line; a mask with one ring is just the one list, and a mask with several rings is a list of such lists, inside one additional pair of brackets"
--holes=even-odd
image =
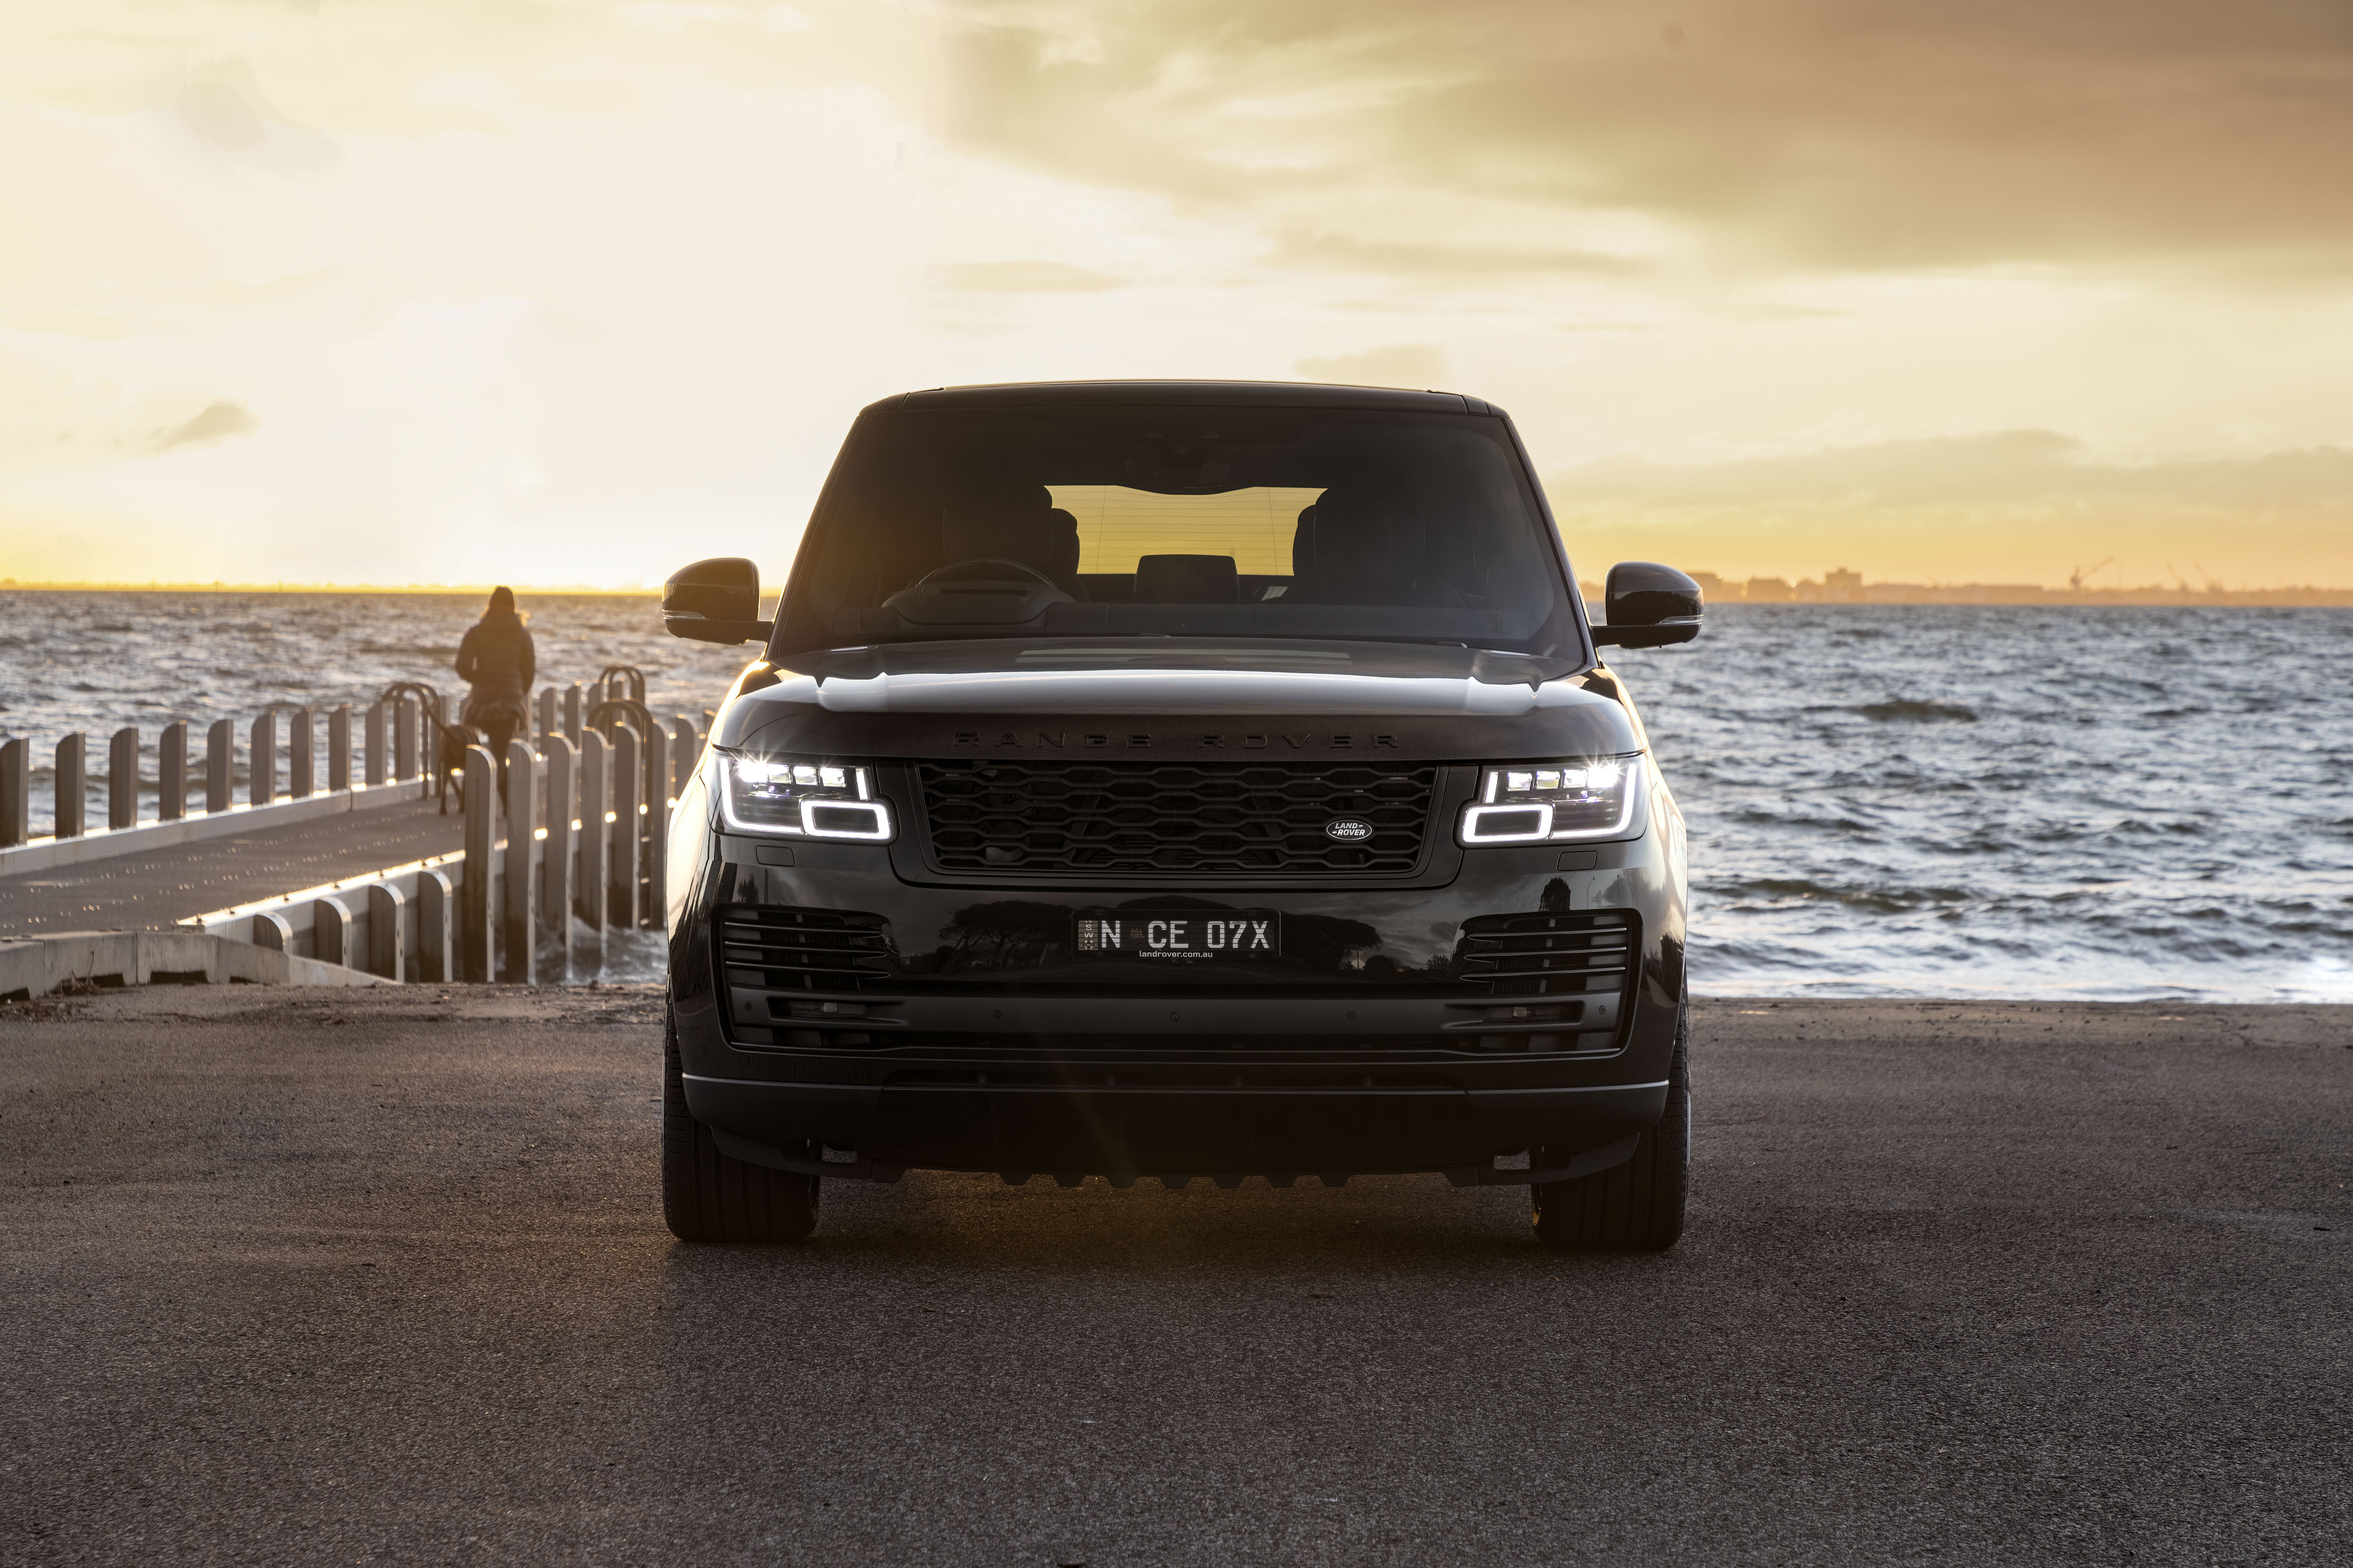
[[(1649, 214), (1734, 261), (1861, 270), (2353, 252), (2341, 0), (967, 0), (946, 16), (955, 136), (1195, 202), (1485, 193)], [(1071, 63), (1078, 38), (1099, 63)]]

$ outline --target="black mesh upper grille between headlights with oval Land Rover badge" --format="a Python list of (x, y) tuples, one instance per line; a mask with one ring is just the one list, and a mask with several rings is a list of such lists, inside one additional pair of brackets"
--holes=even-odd
[[(918, 762), (944, 872), (1024, 877), (1412, 875), (1435, 766)], [(1337, 820), (1372, 827), (1358, 839)]]

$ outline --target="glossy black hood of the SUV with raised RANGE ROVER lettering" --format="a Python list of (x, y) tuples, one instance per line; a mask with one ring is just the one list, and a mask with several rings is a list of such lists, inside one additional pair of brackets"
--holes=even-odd
[(833, 757), (1115, 752), (1139, 762), (1640, 750), (1607, 686), (1588, 686), (1562, 661), (1478, 649), (965, 642), (791, 663), (774, 670), (774, 684), (746, 682), (720, 717), (720, 745)]

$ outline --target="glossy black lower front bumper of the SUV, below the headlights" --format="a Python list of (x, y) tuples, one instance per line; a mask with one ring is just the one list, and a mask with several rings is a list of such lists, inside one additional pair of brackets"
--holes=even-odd
[[(1574, 870), (1551, 846), (1471, 851), (1445, 886), (1202, 891), (1278, 907), (1285, 931), (1369, 938), (1282, 976), (1198, 966), (1148, 980), (1028, 961), (1019, 926), (988, 961), (934, 947), (984, 929), (972, 910), (1019, 900), (1021, 919), (1052, 926), (1106, 889), (927, 886), (856, 844), (798, 844), (791, 865), (720, 835), (704, 835), (694, 863), (680, 849), (671, 994), (687, 1107), (736, 1159), (873, 1180), (1525, 1182), (1626, 1159), (1666, 1103), (1682, 896), (1652, 839), (1579, 851)], [(854, 912), (885, 957), (791, 1001), (729, 985), (715, 926), (746, 907)], [(1614, 922), (1631, 983), (1511, 997), (1466, 978), (1468, 929), (1534, 912)], [(1520, 1004), (1525, 1020), (1508, 1016)]]

